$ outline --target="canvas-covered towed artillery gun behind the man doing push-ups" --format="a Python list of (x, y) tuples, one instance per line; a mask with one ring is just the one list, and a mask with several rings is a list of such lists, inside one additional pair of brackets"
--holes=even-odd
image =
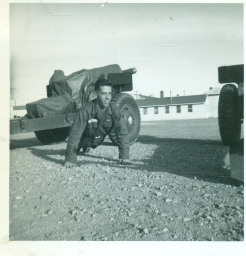
[[(26, 104), (27, 114), (10, 119), (10, 134), (34, 132), (43, 144), (63, 142), (67, 139), (77, 110), (96, 97), (94, 84), (100, 78), (112, 83), (112, 101), (120, 108), (128, 128), (130, 143), (134, 143), (140, 130), (140, 113), (134, 98), (125, 91), (132, 91), (132, 74), (137, 70), (121, 70), (117, 64), (94, 69), (82, 69), (65, 76), (55, 70), (47, 98)], [(114, 130), (109, 138), (117, 145)]]

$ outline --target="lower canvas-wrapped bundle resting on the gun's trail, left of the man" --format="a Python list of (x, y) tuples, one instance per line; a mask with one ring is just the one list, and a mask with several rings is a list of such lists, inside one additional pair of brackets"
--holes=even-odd
[(27, 117), (39, 118), (77, 111), (74, 100), (65, 96), (49, 97), (26, 104)]

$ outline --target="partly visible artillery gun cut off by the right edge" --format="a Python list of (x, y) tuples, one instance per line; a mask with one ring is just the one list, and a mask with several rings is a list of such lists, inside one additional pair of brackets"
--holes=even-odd
[(244, 181), (244, 65), (218, 68), (220, 91), (218, 122), (222, 142), (229, 147), (231, 177)]

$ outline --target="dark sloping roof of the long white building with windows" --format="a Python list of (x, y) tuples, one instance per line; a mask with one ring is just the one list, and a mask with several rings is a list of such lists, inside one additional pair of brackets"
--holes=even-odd
[(184, 105), (184, 104), (203, 104), (207, 98), (206, 94), (202, 95), (189, 95), (178, 96), (170, 98), (149, 98), (143, 100), (136, 100), (138, 107), (150, 106), (171, 106), (171, 105)]

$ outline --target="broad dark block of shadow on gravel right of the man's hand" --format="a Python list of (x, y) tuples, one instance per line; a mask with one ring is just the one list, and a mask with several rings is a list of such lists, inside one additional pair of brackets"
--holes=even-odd
[[(221, 141), (159, 138), (139, 136), (137, 142), (157, 144), (158, 147), (143, 165), (137, 169), (148, 172), (168, 172), (191, 179), (200, 179), (212, 183), (239, 186), (242, 182), (231, 178), (225, 157), (228, 147)], [(229, 162), (228, 162), (229, 164)]]

